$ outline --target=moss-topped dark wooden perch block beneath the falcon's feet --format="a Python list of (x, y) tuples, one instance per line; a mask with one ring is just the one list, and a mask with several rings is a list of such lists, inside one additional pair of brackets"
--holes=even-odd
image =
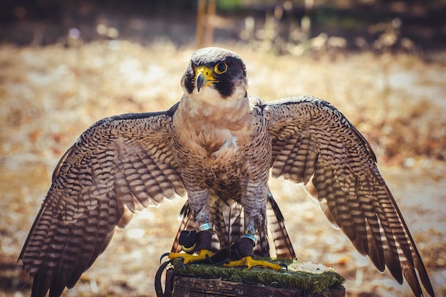
[[(289, 270), (222, 268), (204, 264), (170, 267), (163, 297), (345, 297), (342, 276), (321, 264), (289, 261)], [(299, 263), (299, 271), (295, 270)], [(308, 268), (308, 267), (312, 268)], [(304, 268), (302, 268), (304, 267)], [(314, 268), (316, 267), (316, 268)], [(321, 269), (317, 268), (321, 267)], [(308, 271), (306, 269), (308, 268)], [(326, 270), (324, 270), (326, 269)]]

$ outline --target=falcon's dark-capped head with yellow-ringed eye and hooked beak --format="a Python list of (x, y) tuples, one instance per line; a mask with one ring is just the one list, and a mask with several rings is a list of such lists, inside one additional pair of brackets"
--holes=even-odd
[(221, 103), (247, 96), (247, 71), (237, 53), (224, 48), (202, 48), (192, 54), (181, 85), (185, 95)]

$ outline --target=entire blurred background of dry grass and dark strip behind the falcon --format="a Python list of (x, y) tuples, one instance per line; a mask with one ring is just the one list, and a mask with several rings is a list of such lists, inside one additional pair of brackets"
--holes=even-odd
[[(369, 140), (437, 296), (446, 296), (446, 3), (442, 0), (2, 0), (0, 296), (29, 296), (17, 259), (60, 157), (96, 120), (166, 110), (199, 47), (244, 58), (249, 92), (316, 95)], [(301, 261), (347, 296), (412, 296), (326, 222), (300, 185), (271, 180)], [(63, 296), (155, 296), (184, 198), (138, 214)]]

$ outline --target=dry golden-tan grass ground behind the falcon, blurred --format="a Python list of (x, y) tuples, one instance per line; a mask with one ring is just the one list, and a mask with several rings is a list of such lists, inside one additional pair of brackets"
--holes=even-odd
[[(368, 53), (316, 61), (232, 48), (247, 63), (251, 93), (326, 98), (370, 140), (437, 296), (445, 296), (445, 64)], [(122, 41), (0, 47), (0, 296), (29, 294), (16, 259), (63, 152), (100, 118), (169, 108), (180, 99), (192, 51)], [(273, 180), (271, 188), (301, 260), (336, 268), (347, 278), (348, 296), (411, 296), (408, 286), (358, 256), (300, 186)], [(64, 296), (155, 296), (158, 259), (170, 250), (183, 202), (142, 212), (117, 231)]]

